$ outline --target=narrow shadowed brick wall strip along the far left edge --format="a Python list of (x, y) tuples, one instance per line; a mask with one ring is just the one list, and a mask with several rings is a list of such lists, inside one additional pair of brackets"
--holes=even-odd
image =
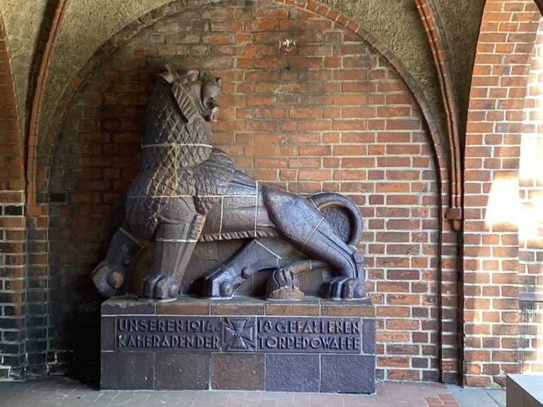
[(21, 374), (25, 327), (23, 146), (0, 16), (0, 378)]

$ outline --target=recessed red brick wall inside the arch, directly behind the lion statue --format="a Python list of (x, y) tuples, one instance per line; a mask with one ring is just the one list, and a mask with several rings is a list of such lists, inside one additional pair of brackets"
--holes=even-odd
[[(277, 51), (284, 37), (298, 43), (290, 60)], [(356, 201), (378, 305), (378, 377), (437, 380), (440, 191), (421, 113), (397, 72), (360, 37), (271, 3), (202, 6), (160, 20), (94, 69), (70, 103), (49, 188), (49, 340), (57, 362), (49, 367), (65, 367), (63, 349), (88, 353), (81, 343), (96, 344), (92, 323), (81, 318), (98, 302), (88, 273), (122, 221), (147, 92), (167, 61), (223, 78), (214, 143), (240, 170), (290, 191), (340, 191)]]

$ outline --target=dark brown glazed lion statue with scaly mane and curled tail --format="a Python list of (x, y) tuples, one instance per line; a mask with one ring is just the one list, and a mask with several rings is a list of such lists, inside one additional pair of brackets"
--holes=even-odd
[[(199, 295), (230, 297), (258, 271), (274, 269), (268, 297), (303, 297), (298, 274), (332, 267), (323, 297), (366, 297), (362, 219), (346, 196), (303, 197), (260, 184), (210, 145), (221, 81), (199, 71), (159, 76), (146, 107), (143, 163), (129, 189), (126, 219), (91, 278), (105, 296), (126, 293), (130, 262), (142, 242), (156, 242), (144, 297), (175, 298), (197, 242), (252, 238), (232, 259), (204, 276)], [(278, 237), (265, 240), (262, 237)], [(307, 259), (284, 261), (298, 249)]]

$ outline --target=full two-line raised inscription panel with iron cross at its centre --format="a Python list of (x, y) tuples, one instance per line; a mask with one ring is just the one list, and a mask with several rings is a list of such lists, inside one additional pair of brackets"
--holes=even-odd
[(117, 350), (361, 353), (363, 325), (339, 317), (119, 316)]

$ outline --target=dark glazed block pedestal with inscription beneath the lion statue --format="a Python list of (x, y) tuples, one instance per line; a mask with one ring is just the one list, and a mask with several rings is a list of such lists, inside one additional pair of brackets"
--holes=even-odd
[(101, 335), (102, 389), (375, 391), (368, 300), (117, 297)]

